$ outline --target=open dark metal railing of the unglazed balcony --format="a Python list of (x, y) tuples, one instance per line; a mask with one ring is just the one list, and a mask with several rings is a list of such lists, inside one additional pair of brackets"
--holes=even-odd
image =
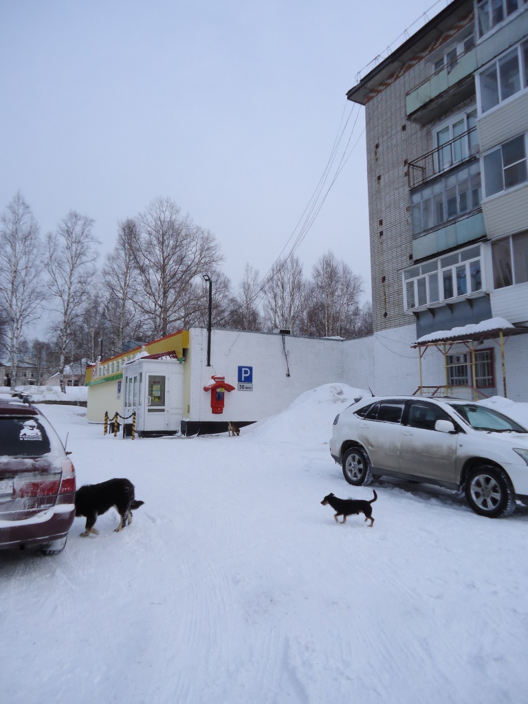
[[(475, 141), (477, 127), (453, 137), (445, 144), (428, 151), (414, 161), (408, 163), (409, 188), (422, 186), (435, 176), (458, 166), (477, 156), (479, 144)], [(473, 138), (472, 138), (473, 135)]]

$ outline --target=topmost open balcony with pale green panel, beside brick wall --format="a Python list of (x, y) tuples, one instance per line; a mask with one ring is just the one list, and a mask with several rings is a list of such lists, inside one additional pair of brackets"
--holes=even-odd
[(476, 70), (477, 51), (472, 47), (452, 63), (435, 71), (408, 92), (406, 111), (409, 120), (427, 125), (458, 103), (474, 96), (473, 74)]

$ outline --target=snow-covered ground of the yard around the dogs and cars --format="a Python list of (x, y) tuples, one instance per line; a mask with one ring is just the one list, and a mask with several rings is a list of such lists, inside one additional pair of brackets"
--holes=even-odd
[[(526, 701), (528, 510), (488, 520), (432, 487), (370, 498), (330, 458), (357, 389), (327, 384), (227, 434), (122, 439), (43, 406), (78, 485), (129, 477), (144, 506), (54, 558), (0, 553), (6, 704)], [(528, 425), (528, 404), (494, 398)], [(524, 565), (524, 566), (523, 566)]]

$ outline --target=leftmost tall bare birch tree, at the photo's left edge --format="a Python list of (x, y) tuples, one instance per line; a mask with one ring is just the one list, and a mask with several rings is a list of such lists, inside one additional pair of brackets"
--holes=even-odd
[(39, 226), (18, 191), (0, 216), (0, 317), (11, 360), (11, 389), (18, 382), (24, 329), (42, 315), (45, 298)]

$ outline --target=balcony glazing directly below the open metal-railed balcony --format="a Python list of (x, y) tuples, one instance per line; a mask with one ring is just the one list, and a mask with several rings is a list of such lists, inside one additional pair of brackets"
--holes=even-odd
[(420, 237), (422, 232), (470, 213), (479, 206), (480, 165), (475, 162), (412, 192), (413, 236)]

